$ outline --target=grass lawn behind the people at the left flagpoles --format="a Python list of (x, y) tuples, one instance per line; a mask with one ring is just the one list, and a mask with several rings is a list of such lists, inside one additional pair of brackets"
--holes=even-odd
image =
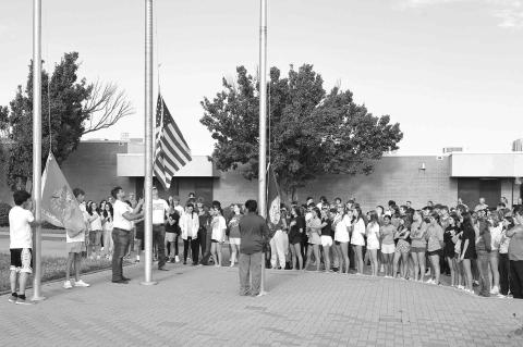
[[(9, 283), (9, 267), (11, 263), (11, 256), (9, 253), (0, 253), (0, 294), (10, 290)], [(68, 259), (63, 257), (41, 257), (42, 274), (41, 282), (60, 280), (65, 277), (65, 267)], [(82, 273), (92, 272), (96, 270), (104, 270), (111, 268), (111, 261), (107, 259), (89, 260), (82, 259)], [(31, 284), (33, 276), (29, 277)]]

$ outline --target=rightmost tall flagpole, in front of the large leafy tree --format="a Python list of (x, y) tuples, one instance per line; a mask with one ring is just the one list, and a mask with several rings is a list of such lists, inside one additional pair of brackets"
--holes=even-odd
[[(267, 0), (260, 0), (259, 13), (259, 159), (258, 212), (267, 218)], [(262, 288), (265, 293), (265, 252), (262, 259)]]

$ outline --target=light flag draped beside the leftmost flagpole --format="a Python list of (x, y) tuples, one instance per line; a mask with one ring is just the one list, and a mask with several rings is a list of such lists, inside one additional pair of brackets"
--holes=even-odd
[(73, 233), (85, 230), (78, 201), (52, 153), (47, 157), (46, 169), (41, 175), (41, 216), (52, 225)]

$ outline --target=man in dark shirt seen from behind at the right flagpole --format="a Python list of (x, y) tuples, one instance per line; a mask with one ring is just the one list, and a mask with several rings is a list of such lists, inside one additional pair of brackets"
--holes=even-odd
[(262, 285), (263, 250), (269, 228), (265, 219), (256, 213), (258, 203), (255, 200), (247, 200), (245, 208), (247, 213), (240, 221), (240, 295), (256, 296)]

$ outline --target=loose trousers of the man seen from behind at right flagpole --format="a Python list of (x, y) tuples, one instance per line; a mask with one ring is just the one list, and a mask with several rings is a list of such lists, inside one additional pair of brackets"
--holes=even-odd
[(262, 286), (263, 252), (240, 253), (238, 260), (240, 274), (240, 295), (258, 295)]

